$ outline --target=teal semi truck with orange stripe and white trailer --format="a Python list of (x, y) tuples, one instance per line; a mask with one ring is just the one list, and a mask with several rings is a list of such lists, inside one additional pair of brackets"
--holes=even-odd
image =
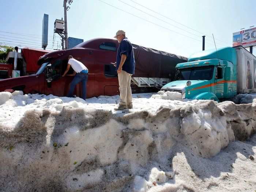
[(242, 46), (205, 50), (176, 65), (174, 81), (163, 91), (182, 93), (182, 99), (232, 98), (256, 93), (256, 57)]

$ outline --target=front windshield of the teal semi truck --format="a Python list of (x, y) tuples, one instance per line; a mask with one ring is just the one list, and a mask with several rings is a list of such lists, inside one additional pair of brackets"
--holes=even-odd
[(174, 80), (210, 80), (214, 66), (177, 69)]

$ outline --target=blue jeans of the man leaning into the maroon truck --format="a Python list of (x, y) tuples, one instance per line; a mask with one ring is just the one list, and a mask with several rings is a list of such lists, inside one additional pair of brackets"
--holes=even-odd
[(74, 93), (74, 89), (76, 84), (82, 81), (82, 98), (85, 100), (86, 99), (86, 83), (88, 80), (88, 74), (85, 73), (77, 73), (70, 83), (70, 89), (68, 91), (67, 97), (72, 97)]

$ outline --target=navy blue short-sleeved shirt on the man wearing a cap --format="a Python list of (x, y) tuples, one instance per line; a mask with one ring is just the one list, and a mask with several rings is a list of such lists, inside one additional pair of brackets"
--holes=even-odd
[(116, 70), (120, 65), (122, 54), (125, 54), (127, 56), (124, 62), (124, 65), (122, 67), (122, 70), (126, 71), (129, 74), (134, 74), (135, 72), (134, 52), (133, 52), (131, 42), (126, 37), (120, 42), (120, 45), (117, 49)]

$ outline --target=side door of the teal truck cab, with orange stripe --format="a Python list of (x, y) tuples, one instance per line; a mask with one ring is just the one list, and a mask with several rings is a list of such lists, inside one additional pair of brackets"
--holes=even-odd
[(217, 66), (215, 68), (215, 86), (214, 93), (218, 98), (224, 97), (224, 75), (223, 75), (223, 68), (221, 66)]

